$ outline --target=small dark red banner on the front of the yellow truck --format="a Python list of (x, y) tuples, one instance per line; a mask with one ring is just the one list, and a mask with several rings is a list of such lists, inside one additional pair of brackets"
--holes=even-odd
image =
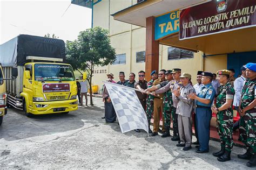
[(70, 91), (69, 83), (44, 83), (43, 93)]

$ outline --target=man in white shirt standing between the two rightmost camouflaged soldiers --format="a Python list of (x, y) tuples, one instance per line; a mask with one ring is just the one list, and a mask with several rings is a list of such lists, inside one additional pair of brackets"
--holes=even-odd
[[(242, 66), (240, 68), (241, 76), (235, 79), (234, 81), (234, 90), (235, 90), (235, 95), (234, 95), (234, 101), (233, 101), (233, 106), (235, 110), (238, 111), (238, 107), (240, 104), (240, 99), (241, 99), (241, 93), (242, 93), (242, 87), (244, 87), (244, 82), (246, 80), (246, 74), (245, 74), (246, 66)], [(235, 122), (233, 125), (233, 131), (237, 130), (239, 128), (239, 121)]]

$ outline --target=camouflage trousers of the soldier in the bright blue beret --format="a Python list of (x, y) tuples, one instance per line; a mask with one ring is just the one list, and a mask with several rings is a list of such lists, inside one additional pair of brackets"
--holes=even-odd
[(250, 153), (256, 154), (256, 112), (246, 112), (239, 121), (239, 140), (250, 148)]

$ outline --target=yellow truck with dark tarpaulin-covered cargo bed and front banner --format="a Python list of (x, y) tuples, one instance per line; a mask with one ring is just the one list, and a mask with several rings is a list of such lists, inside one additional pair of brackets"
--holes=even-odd
[(3, 73), (18, 70), (6, 81), (7, 105), (25, 115), (68, 113), (78, 108), (77, 86), (71, 65), (65, 63), (65, 43), (60, 39), (21, 34), (0, 46)]

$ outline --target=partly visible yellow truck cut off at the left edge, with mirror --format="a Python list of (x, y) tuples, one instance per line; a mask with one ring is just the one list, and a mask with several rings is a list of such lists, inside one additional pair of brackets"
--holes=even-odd
[(0, 126), (3, 123), (4, 115), (7, 114), (7, 107), (6, 107), (6, 80), (14, 80), (17, 77), (17, 67), (12, 68), (12, 78), (11, 79), (4, 79), (2, 65), (0, 63)]

